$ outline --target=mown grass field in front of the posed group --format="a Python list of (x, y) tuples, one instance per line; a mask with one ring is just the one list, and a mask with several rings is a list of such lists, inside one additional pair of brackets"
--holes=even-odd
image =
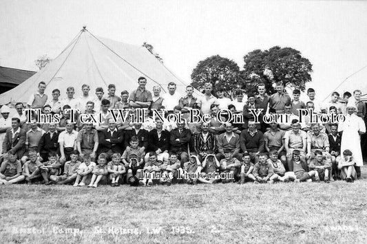
[[(367, 178), (366, 167), (363, 172)], [(367, 243), (367, 179), (0, 186), (1, 243)]]

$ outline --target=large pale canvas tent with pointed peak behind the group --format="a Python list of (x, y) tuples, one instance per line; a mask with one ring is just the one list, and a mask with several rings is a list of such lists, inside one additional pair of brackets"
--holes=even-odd
[[(28, 102), (41, 81), (46, 83), (45, 93), (50, 99), (52, 89), (56, 88), (61, 91), (60, 98), (65, 98), (67, 87), (74, 87), (74, 97), (78, 98), (82, 94), (83, 84), (90, 85), (91, 94), (94, 94), (96, 87), (103, 87), (106, 94), (107, 86), (115, 84), (116, 95), (119, 96), (123, 90), (131, 92), (136, 89), (140, 76), (147, 78), (146, 88), (149, 91), (158, 85), (162, 93), (166, 93), (168, 83), (175, 82), (176, 91), (185, 95), (187, 84), (145, 47), (94, 36), (83, 27), (76, 38), (45, 68), (1, 94), (0, 104)], [(200, 92), (196, 93), (200, 95)]]

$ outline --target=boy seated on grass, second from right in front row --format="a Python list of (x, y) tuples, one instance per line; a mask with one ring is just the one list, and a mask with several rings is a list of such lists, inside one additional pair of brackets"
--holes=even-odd
[(324, 180), (325, 183), (330, 183), (329, 174), (331, 175), (331, 158), (324, 158), (322, 151), (315, 151), (315, 158), (310, 160), (308, 168), (315, 170), (315, 181)]

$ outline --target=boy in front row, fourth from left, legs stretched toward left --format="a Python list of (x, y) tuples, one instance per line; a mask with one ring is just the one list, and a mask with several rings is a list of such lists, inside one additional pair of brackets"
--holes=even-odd
[(60, 176), (51, 175), (50, 180), (56, 181), (56, 184), (58, 185), (72, 183), (76, 179), (76, 176), (78, 176), (76, 171), (81, 165), (81, 162), (78, 160), (78, 158), (79, 158), (79, 152), (76, 150), (72, 151), (72, 153), (70, 154), (71, 160), (65, 162), (63, 175)]

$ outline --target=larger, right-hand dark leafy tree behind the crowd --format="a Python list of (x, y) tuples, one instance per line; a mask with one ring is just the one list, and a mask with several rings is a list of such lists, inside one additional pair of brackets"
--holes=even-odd
[[(271, 47), (269, 50), (256, 49), (244, 56), (244, 79), (251, 84), (264, 82), (270, 93), (273, 83), (281, 81), (284, 86), (304, 91), (306, 82), (311, 81), (312, 64), (291, 47)], [(255, 79), (255, 80), (254, 80)], [(251, 82), (252, 80), (252, 82)]]

